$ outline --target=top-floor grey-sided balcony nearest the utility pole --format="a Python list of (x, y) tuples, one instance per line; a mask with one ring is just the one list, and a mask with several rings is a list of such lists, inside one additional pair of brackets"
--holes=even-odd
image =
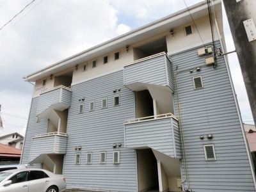
[(148, 85), (166, 86), (174, 92), (172, 62), (165, 52), (133, 61), (124, 66), (124, 85), (132, 91)]

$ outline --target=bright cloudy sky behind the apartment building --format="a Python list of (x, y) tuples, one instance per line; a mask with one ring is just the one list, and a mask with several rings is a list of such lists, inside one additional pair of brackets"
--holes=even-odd
[[(200, 1), (0, 0), (0, 136), (25, 135), (33, 84), (22, 77)], [(223, 20), (234, 51), (224, 8)], [(243, 122), (253, 124), (236, 52), (228, 60)]]

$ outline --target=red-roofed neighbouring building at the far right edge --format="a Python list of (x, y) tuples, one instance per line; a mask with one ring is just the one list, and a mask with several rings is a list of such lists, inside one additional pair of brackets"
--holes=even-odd
[(252, 154), (254, 170), (256, 173), (256, 127), (255, 125), (243, 124), (246, 138), (249, 144), (250, 152)]

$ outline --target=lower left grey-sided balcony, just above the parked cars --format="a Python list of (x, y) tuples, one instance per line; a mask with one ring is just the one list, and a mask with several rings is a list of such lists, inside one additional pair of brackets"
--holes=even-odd
[(30, 159), (40, 154), (66, 154), (68, 136), (63, 132), (36, 134), (32, 138)]

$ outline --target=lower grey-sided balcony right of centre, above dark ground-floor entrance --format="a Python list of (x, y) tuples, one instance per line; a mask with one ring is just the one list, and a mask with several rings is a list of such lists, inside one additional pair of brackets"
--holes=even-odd
[(172, 113), (126, 120), (124, 128), (126, 148), (153, 148), (181, 158), (178, 120)]

